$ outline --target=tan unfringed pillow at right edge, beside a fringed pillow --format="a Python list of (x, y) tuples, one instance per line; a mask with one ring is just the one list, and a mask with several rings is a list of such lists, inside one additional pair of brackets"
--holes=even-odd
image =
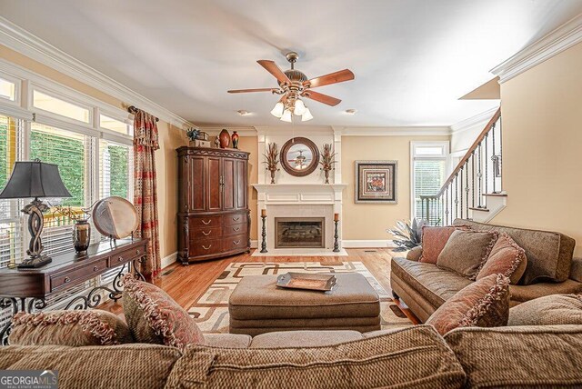
[(582, 324), (582, 294), (550, 294), (514, 306), (507, 325)]

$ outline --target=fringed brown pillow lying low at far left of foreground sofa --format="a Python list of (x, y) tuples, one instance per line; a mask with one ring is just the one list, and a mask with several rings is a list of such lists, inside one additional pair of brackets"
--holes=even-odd
[(12, 318), (9, 344), (114, 345), (133, 343), (127, 324), (106, 311), (20, 312)]

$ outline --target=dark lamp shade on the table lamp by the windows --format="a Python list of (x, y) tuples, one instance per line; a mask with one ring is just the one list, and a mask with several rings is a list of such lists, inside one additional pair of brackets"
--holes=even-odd
[(58, 166), (39, 160), (16, 162), (0, 198), (72, 197), (66, 189)]

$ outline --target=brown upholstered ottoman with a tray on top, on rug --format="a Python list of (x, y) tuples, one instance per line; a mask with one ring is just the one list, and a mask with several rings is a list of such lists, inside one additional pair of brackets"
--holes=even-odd
[(362, 274), (335, 274), (331, 292), (284, 289), (276, 275), (249, 275), (228, 301), (230, 333), (256, 336), (274, 331), (380, 329), (380, 299)]

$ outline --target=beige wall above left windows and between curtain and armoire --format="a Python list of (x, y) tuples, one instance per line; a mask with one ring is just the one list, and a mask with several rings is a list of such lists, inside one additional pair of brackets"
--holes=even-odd
[[(43, 75), (57, 83), (69, 86), (85, 95), (99, 99), (106, 104), (122, 108), (122, 102), (111, 95), (85, 85), (68, 75), (64, 75), (54, 69), (32, 60), (25, 55), (20, 55), (9, 48), (0, 45), (0, 58), (15, 65), (20, 65), (39, 75)], [(177, 250), (177, 157), (176, 148), (187, 144), (186, 132), (165, 122), (157, 124), (160, 135), (160, 150), (156, 152), (156, 173), (158, 192), (158, 214), (160, 226), (160, 254), (162, 258), (173, 254)]]

